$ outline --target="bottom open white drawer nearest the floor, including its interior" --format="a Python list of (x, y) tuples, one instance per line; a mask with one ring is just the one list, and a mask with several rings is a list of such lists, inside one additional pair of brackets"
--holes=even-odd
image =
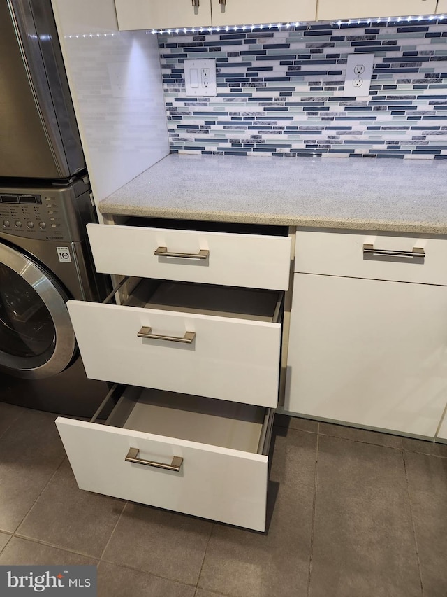
[(265, 530), (272, 409), (115, 386), (96, 416), (56, 420), (80, 489)]

